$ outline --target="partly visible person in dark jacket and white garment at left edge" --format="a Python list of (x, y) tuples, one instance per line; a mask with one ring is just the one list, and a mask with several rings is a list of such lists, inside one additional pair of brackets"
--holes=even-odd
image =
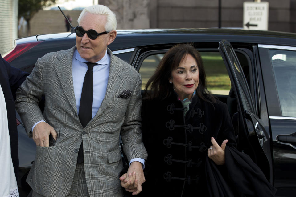
[(0, 55), (0, 196), (19, 196), (18, 131), (14, 99), (18, 87), (28, 73), (11, 67)]

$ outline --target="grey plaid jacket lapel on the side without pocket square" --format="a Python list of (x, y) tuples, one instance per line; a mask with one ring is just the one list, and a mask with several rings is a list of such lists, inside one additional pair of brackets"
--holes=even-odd
[(77, 113), (72, 75), (72, 58), (75, 49), (76, 46), (73, 46), (71, 49), (66, 50), (57, 57), (58, 61), (56, 62), (55, 70), (58, 78), (60, 79), (66, 97)]

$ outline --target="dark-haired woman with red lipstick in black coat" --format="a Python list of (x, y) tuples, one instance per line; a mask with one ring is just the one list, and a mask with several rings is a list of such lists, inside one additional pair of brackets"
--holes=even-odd
[[(149, 156), (142, 195), (273, 196), (259, 167), (236, 150), (228, 108), (207, 90), (193, 46), (168, 50), (145, 92), (142, 134)], [(243, 160), (248, 168), (240, 166)], [(253, 180), (258, 185), (249, 184)]]

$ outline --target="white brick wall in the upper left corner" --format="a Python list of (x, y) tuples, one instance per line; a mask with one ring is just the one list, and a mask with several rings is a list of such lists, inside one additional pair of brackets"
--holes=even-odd
[(0, 53), (3, 55), (18, 37), (18, 0), (0, 0), (0, 24)]

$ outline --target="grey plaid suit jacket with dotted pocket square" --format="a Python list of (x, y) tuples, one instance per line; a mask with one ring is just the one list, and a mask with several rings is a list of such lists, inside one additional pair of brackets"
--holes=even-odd
[[(122, 170), (119, 135), (128, 159), (147, 158), (141, 133), (140, 74), (132, 66), (111, 57), (105, 97), (95, 117), (83, 129), (77, 113), (69, 50), (39, 58), (30, 76), (17, 91), (16, 108), (29, 136), (32, 126), (45, 120), (58, 133), (55, 146), (36, 149), (27, 182), (37, 193), (66, 196), (75, 172), (78, 149), (83, 141), (84, 169), (90, 196), (122, 196), (119, 173)], [(131, 90), (130, 98), (117, 98)], [(94, 90), (95, 91), (95, 90)], [(38, 104), (45, 96), (44, 113)]]

